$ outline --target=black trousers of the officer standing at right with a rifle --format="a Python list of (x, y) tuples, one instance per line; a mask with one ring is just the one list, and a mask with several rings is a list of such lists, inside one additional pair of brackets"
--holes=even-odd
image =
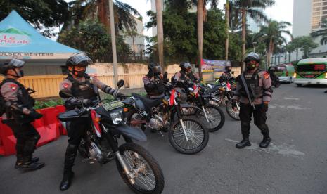
[(267, 115), (266, 112), (260, 111), (261, 105), (255, 105), (255, 110), (250, 103), (240, 103), (240, 119), (241, 119), (241, 131), (243, 138), (248, 138), (250, 135), (250, 123), (253, 118), (255, 119), (255, 125), (261, 130), (264, 136), (269, 136), (269, 128), (266, 124)]

